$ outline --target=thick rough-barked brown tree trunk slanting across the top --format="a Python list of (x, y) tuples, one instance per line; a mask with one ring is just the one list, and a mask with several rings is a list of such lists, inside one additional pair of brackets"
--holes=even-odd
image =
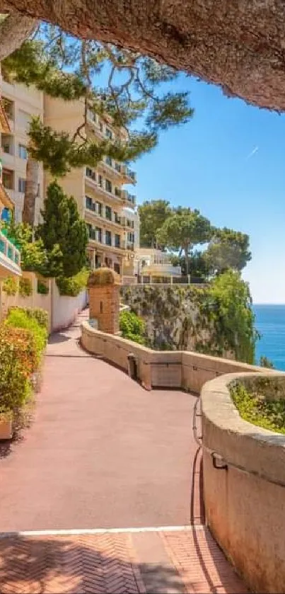
[(0, 0), (6, 11), (148, 54), (227, 96), (285, 110), (284, 0)]

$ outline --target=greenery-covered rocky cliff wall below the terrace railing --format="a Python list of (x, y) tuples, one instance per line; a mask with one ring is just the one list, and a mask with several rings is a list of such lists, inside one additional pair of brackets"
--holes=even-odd
[(248, 285), (239, 273), (225, 273), (202, 288), (122, 287), (121, 296), (147, 322), (151, 348), (193, 350), (254, 362), (255, 317)]

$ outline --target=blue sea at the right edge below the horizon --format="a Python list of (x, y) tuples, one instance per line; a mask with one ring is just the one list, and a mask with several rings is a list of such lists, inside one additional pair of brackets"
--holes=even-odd
[(255, 327), (262, 334), (256, 345), (256, 362), (264, 355), (285, 371), (285, 305), (254, 305)]

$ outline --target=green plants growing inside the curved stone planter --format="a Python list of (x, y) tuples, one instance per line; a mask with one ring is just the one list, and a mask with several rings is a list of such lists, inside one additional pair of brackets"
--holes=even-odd
[(285, 433), (285, 400), (267, 400), (259, 392), (249, 392), (242, 384), (231, 388), (231, 397), (240, 416), (253, 425)]

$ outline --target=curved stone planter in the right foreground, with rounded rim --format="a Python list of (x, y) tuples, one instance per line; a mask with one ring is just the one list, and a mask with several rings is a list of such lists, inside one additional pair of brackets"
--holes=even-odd
[[(285, 435), (243, 421), (229, 392), (234, 380), (257, 377), (228, 374), (204, 384), (204, 503), (211, 532), (250, 588), (273, 594), (285, 584)], [(284, 374), (274, 377), (285, 397)]]

